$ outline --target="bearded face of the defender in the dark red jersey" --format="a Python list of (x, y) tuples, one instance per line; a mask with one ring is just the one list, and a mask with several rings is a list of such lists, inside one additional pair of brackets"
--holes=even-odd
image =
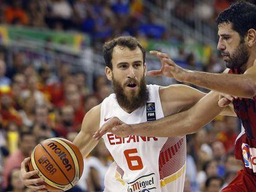
[(220, 36), (217, 49), (221, 51), (226, 67), (239, 68), (248, 59), (248, 49), (237, 31), (233, 30), (231, 23), (221, 23), (218, 26)]

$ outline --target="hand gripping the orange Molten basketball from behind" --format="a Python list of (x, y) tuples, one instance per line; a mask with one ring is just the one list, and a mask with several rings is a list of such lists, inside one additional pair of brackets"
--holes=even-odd
[(45, 185), (40, 185), (41, 182), (44, 182), (43, 178), (31, 178), (33, 175), (39, 173), (38, 170), (33, 170), (32, 172), (27, 171), (28, 162), (30, 161), (30, 157), (25, 158), (21, 163), (20, 168), (20, 178), (25, 186), (31, 188), (34, 191), (47, 191)]

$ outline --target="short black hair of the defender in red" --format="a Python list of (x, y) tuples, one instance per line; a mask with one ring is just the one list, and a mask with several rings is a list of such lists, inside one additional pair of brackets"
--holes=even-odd
[(238, 1), (223, 10), (218, 15), (216, 23), (231, 23), (233, 30), (243, 39), (250, 28), (256, 30), (256, 6), (250, 2)]

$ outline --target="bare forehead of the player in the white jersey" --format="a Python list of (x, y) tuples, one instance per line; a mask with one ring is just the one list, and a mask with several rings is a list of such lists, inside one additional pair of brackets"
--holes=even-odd
[(130, 50), (127, 47), (116, 46), (113, 49), (112, 63), (118, 64), (121, 62), (132, 63), (135, 61), (143, 62), (143, 54), (139, 47)]

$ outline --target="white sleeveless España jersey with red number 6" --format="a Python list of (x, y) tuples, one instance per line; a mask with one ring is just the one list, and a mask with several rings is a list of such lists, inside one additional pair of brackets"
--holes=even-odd
[[(118, 117), (128, 124), (163, 118), (159, 86), (147, 85), (147, 88), (150, 93), (149, 101), (130, 114), (119, 106), (116, 94), (106, 98), (101, 104), (100, 126), (111, 117)], [(183, 191), (186, 170), (185, 136), (155, 138), (130, 135), (121, 138), (113, 133), (106, 133), (103, 139), (116, 162), (106, 174), (105, 191)]]

